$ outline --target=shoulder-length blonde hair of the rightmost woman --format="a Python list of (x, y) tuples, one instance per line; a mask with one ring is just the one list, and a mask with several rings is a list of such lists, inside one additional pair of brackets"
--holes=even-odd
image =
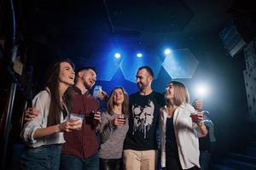
[[(172, 100), (173, 105), (182, 105), (183, 103), (189, 103), (189, 92), (188, 89), (182, 82), (171, 81), (174, 88), (174, 99)], [(168, 102), (168, 101), (167, 101)]]

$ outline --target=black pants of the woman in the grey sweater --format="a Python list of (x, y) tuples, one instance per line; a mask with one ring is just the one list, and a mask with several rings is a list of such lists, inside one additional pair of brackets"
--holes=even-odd
[(100, 170), (122, 170), (123, 161), (120, 159), (100, 159)]

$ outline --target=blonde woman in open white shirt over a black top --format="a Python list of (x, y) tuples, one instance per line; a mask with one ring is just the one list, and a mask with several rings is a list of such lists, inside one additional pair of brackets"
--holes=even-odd
[(189, 93), (182, 82), (166, 87), (166, 105), (160, 109), (161, 166), (166, 170), (200, 169), (199, 137), (207, 135), (201, 113), (189, 105)]

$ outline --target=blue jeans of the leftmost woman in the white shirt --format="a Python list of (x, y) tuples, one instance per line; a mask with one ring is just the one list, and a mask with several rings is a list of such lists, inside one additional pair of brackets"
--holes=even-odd
[(61, 144), (49, 144), (37, 148), (25, 147), (20, 156), (20, 169), (59, 170)]

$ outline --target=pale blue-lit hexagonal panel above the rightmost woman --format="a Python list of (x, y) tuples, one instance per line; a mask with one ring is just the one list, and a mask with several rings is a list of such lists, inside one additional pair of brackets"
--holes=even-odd
[(162, 66), (172, 78), (191, 78), (199, 61), (189, 49), (173, 50), (166, 56)]

